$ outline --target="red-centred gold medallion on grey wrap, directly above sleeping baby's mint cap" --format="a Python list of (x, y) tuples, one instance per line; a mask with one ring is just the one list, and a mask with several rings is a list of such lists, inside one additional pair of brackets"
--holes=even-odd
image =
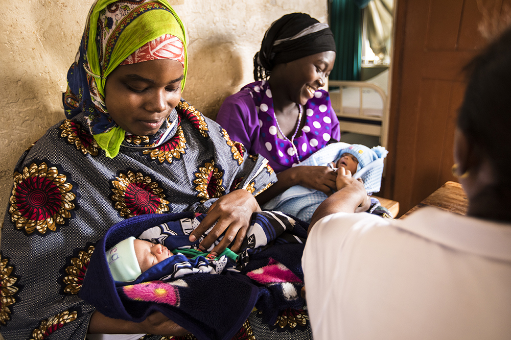
[(128, 171), (111, 181), (112, 201), (121, 216), (128, 218), (142, 214), (169, 211), (164, 190), (150, 176)]

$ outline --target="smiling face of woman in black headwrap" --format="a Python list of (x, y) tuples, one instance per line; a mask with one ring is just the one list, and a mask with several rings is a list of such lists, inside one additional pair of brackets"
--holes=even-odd
[(335, 62), (335, 52), (327, 51), (293, 60), (284, 64), (283, 82), (290, 99), (305, 105), (314, 93), (326, 83)]

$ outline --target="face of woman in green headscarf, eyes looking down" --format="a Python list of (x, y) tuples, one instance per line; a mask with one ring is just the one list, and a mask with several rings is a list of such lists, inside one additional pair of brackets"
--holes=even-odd
[(183, 65), (177, 60), (118, 66), (106, 79), (108, 113), (129, 133), (153, 135), (179, 104), (182, 79)]

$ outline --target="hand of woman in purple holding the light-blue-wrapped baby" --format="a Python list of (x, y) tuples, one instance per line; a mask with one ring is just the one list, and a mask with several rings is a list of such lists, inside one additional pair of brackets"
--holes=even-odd
[(336, 190), (337, 174), (329, 166), (296, 166), (293, 171), (296, 182), (301, 186), (322, 191), (327, 196)]

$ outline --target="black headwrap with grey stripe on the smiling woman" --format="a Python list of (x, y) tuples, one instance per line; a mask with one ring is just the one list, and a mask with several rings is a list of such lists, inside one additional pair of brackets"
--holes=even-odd
[(286, 14), (266, 31), (261, 50), (254, 56), (254, 80), (267, 80), (273, 66), (316, 53), (336, 51), (326, 23), (305, 13)]

